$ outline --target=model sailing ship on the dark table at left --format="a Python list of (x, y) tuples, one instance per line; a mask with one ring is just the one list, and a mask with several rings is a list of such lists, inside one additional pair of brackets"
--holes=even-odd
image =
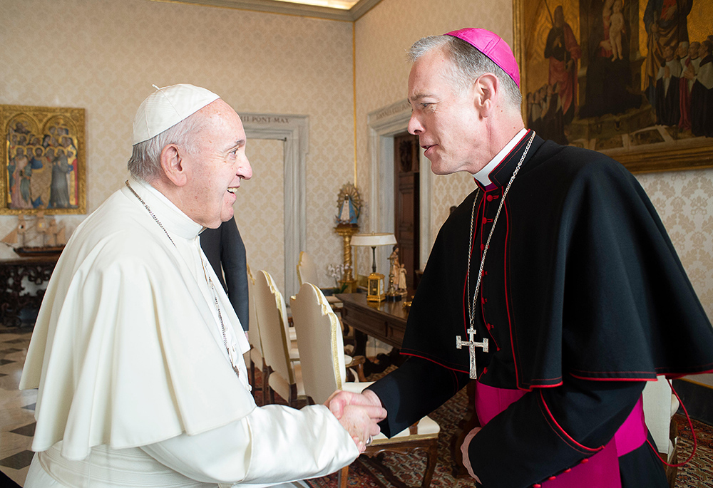
[[(54, 217), (46, 219), (43, 212), (38, 212), (34, 225), (29, 225), (24, 215), (17, 216), (17, 226), (7, 234), (1, 242), (13, 248), (22, 257), (54, 256), (60, 254), (67, 244), (64, 227), (58, 227)], [(41, 246), (28, 246), (27, 242), (36, 241), (39, 237)], [(19, 244), (15, 247), (15, 244)]]

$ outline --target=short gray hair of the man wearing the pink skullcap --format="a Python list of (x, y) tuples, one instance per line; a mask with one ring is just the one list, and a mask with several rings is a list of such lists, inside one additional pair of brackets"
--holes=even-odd
[(409, 50), (411, 63), (416, 62), (431, 49), (441, 49), (443, 53), (452, 61), (452, 68), (449, 69), (448, 76), (453, 81), (456, 90), (467, 90), (471, 88), (473, 81), (485, 73), (493, 73), (498, 78), (505, 100), (508, 105), (512, 105), (514, 110), (520, 111), (523, 103), (523, 95), (520, 93), (517, 83), (513, 81), (503, 68), (493, 63), (488, 56), (478, 51), (466, 41), (454, 36), (429, 36), (416, 41)]

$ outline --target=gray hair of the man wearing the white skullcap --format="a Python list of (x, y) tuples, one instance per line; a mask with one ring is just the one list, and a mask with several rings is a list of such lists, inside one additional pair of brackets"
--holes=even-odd
[(131, 175), (145, 182), (152, 182), (161, 175), (161, 152), (169, 144), (183, 147), (183, 150), (195, 154), (195, 139), (202, 128), (203, 118), (198, 112), (181, 120), (178, 124), (133, 146), (133, 152), (126, 167)]

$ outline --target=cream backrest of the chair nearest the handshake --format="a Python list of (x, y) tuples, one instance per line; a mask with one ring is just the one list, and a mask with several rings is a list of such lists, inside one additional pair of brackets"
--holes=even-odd
[(290, 299), (304, 393), (324, 403), (344, 384), (344, 342), (339, 320), (317, 286), (304, 283)]

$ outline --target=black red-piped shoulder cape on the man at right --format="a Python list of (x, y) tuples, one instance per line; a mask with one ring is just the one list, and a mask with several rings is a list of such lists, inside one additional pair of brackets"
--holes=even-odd
[[(485, 198), (480, 192), (476, 220), (494, 217), (527, 139), (491, 174), (497, 187)], [(455, 342), (466, 338), (475, 197), (468, 195), (438, 233), (401, 349), (463, 372), (468, 350)], [(490, 232), (491, 222), (484, 226)], [(476, 234), (471, 294), (479, 244), (487, 239)], [(635, 177), (598, 152), (535, 136), (484, 270), (478, 337), (488, 327), (511, 336), (502, 345), (515, 361), (511, 388), (554, 386), (564, 375), (653, 380), (713, 370), (713, 329), (660, 218)], [(478, 363), (487, 364), (485, 356), (478, 353)]]

